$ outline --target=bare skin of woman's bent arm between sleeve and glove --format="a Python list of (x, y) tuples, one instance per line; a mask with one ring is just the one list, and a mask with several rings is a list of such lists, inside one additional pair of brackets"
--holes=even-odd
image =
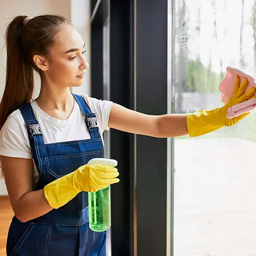
[(53, 208), (44, 190), (33, 190), (32, 159), (1, 156), (2, 170), (16, 218), (27, 222), (47, 214)]

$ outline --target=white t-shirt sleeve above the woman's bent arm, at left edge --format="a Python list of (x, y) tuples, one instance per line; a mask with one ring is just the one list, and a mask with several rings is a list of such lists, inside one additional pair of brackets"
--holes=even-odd
[(9, 116), (0, 132), (0, 155), (32, 159), (26, 126)]

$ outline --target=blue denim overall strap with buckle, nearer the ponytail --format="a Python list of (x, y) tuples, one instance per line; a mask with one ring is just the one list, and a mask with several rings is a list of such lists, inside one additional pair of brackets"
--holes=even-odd
[(40, 130), (40, 125), (35, 118), (35, 114), (30, 103), (23, 104), (20, 106), (19, 110), (27, 125), (32, 157), (35, 162), (38, 163), (35, 147), (45, 144), (44, 137), (42, 137)]

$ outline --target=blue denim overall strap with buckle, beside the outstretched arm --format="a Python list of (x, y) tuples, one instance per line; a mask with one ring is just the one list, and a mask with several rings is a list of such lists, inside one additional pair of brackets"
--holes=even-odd
[(88, 104), (86, 103), (86, 100), (81, 95), (73, 94), (73, 96), (76, 99), (76, 102), (78, 103), (82, 113), (86, 116), (85, 122), (87, 129), (91, 135), (91, 138), (100, 138), (99, 134), (99, 127), (97, 122), (97, 117), (94, 113), (92, 113), (91, 109), (89, 108)]

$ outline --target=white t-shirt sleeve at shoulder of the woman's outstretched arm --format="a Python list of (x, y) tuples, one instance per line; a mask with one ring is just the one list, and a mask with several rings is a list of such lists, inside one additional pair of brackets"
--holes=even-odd
[(91, 111), (95, 113), (98, 123), (99, 130), (103, 133), (104, 131), (109, 131), (109, 117), (112, 101), (100, 100), (96, 98), (89, 97), (88, 95), (82, 95), (86, 102), (88, 103)]

